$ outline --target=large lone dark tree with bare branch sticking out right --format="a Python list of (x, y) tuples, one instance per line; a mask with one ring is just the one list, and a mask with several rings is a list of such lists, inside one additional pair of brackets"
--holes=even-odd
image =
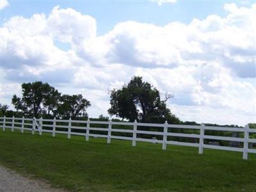
[(151, 84), (142, 81), (142, 77), (132, 77), (120, 90), (111, 90), (108, 113), (130, 121), (179, 123), (179, 118), (166, 108), (166, 101), (171, 97), (166, 94), (161, 100), (159, 91)]

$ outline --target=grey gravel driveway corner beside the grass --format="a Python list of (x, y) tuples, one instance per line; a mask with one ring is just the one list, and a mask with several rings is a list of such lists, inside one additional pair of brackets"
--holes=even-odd
[(61, 189), (52, 189), (49, 184), (38, 180), (22, 177), (18, 173), (0, 165), (0, 191), (18, 192), (63, 192)]

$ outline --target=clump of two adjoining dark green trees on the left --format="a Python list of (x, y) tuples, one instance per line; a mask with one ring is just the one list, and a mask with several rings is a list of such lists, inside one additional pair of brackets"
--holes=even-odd
[(12, 104), (24, 115), (61, 116), (76, 118), (87, 116), (86, 108), (91, 104), (83, 95), (61, 95), (58, 90), (42, 81), (22, 84), (22, 97), (13, 95)]

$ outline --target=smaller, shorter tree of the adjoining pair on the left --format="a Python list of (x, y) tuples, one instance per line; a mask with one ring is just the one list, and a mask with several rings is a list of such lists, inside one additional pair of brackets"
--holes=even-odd
[(58, 115), (66, 118), (76, 118), (77, 116), (87, 116), (86, 109), (91, 106), (89, 100), (83, 95), (62, 95), (58, 106)]

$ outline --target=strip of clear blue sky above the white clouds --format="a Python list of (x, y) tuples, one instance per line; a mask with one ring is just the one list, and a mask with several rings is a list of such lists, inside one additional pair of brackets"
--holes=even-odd
[[(9, 1), (10, 7), (3, 11), (3, 19), (13, 15), (31, 17), (35, 13), (49, 15), (54, 6), (74, 8), (78, 12), (91, 15), (97, 20), (98, 34), (113, 29), (118, 22), (136, 20), (164, 26), (169, 22), (179, 21), (188, 24), (194, 18), (204, 19), (208, 15), (224, 16), (225, 3), (242, 1), (177, 1), (176, 3), (157, 4), (153, 1)], [(253, 1), (246, 2), (246, 6)]]

